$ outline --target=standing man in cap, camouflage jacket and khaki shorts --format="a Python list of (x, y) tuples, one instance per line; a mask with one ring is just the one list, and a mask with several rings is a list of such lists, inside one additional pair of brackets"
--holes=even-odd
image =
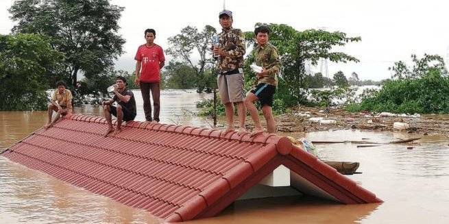
[(243, 100), (243, 55), (245, 55), (245, 37), (240, 29), (232, 27), (232, 12), (223, 10), (219, 13), (219, 22), (223, 31), (219, 34), (219, 47), (214, 47), (217, 62), (217, 83), (221, 102), (225, 106), (228, 127), (221, 134), (225, 136), (234, 130), (234, 103), (239, 115), (239, 134), (245, 131), (246, 108)]

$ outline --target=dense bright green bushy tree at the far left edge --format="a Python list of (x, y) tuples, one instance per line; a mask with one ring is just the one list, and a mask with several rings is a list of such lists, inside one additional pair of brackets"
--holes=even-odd
[(0, 36), (0, 110), (46, 110), (52, 77), (58, 77), (63, 55), (47, 36)]

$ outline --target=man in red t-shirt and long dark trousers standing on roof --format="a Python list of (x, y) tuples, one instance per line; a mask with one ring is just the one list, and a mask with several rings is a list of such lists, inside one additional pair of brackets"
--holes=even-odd
[[(160, 69), (165, 64), (162, 47), (154, 43), (156, 32), (154, 29), (145, 29), (147, 43), (137, 49), (136, 57), (136, 85), (141, 87), (143, 110), (145, 119), (151, 122), (159, 122), (160, 112)], [(151, 118), (151, 103), (149, 92), (153, 97), (154, 116)]]

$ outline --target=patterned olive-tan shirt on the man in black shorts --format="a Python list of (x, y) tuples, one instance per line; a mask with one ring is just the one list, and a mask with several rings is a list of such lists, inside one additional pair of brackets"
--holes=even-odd
[(257, 83), (266, 83), (271, 86), (278, 86), (278, 73), (280, 71), (280, 60), (278, 55), (278, 49), (267, 43), (264, 46), (257, 46), (254, 49), (254, 59), (258, 66), (267, 70), (267, 75), (260, 77)]

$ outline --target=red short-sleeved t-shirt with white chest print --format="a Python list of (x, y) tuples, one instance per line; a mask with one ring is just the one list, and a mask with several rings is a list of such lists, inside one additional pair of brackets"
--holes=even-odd
[(134, 60), (142, 62), (141, 82), (160, 82), (160, 62), (165, 61), (164, 51), (159, 45), (147, 47), (141, 45), (137, 49)]

